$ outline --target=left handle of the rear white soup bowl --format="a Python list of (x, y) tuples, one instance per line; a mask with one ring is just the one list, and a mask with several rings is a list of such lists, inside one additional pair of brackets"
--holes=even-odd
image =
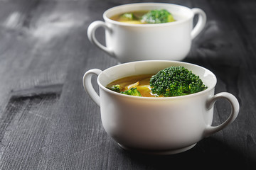
[(112, 29), (110, 29), (109, 26), (107, 26), (107, 24), (103, 21), (94, 21), (90, 24), (90, 26), (88, 26), (87, 28), (87, 37), (90, 40), (90, 42), (94, 45), (96, 45), (97, 47), (100, 48), (100, 50), (103, 50), (104, 52), (107, 52), (108, 55), (114, 57), (114, 52), (113, 50), (111, 50), (109, 47), (106, 47), (104, 45), (102, 45), (97, 38), (95, 37), (95, 31), (97, 30), (97, 28), (103, 27), (105, 28), (107, 31), (112, 31)]

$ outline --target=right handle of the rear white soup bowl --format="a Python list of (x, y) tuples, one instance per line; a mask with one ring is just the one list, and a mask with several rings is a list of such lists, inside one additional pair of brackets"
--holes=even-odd
[(191, 32), (191, 38), (193, 40), (203, 30), (204, 26), (206, 26), (206, 13), (200, 8), (192, 8), (191, 10), (194, 16), (198, 14), (198, 22)]

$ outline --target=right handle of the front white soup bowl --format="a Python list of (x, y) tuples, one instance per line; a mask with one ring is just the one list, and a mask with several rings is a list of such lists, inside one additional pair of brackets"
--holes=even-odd
[(227, 125), (230, 125), (230, 123), (233, 123), (235, 118), (237, 118), (237, 116), (238, 116), (238, 112), (240, 109), (238, 99), (235, 98), (235, 96), (233, 96), (233, 94), (230, 94), (227, 92), (221, 92), (221, 93), (215, 94), (213, 97), (209, 98), (208, 101), (206, 101), (206, 108), (208, 108), (208, 109), (213, 108), (215, 101), (217, 101), (220, 98), (225, 98), (230, 103), (230, 106), (231, 106), (230, 116), (220, 125), (217, 125), (217, 126), (208, 125), (208, 127), (206, 128), (206, 130), (204, 132), (205, 137), (208, 137), (209, 135), (222, 130)]

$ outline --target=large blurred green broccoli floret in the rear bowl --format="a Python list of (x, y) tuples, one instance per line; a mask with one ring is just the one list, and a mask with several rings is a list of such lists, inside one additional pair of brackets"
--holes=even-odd
[(151, 10), (142, 16), (144, 23), (169, 23), (175, 21), (174, 17), (166, 9)]

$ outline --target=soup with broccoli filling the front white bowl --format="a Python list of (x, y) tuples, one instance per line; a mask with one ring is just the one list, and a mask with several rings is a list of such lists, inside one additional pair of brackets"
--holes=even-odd
[(199, 76), (182, 66), (171, 66), (157, 74), (117, 79), (107, 88), (121, 94), (144, 97), (171, 97), (195, 94), (207, 89)]

